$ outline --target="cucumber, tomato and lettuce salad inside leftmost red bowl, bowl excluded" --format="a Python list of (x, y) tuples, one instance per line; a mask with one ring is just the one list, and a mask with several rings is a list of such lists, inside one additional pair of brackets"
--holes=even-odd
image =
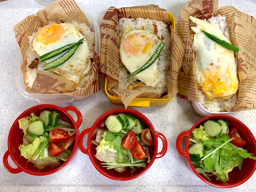
[(60, 165), (59, 161), (69, 158), (75, 144), (75, 129), (59, 118), (58, 111), (43, 110), (39, 117), (31, 113), (18, 123), (24, 133), (23, 143), (19, 146), (21, 156), (34, 167), (56, 167)]

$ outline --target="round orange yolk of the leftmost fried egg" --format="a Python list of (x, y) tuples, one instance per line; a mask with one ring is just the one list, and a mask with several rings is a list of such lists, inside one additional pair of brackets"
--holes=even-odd
[(53, 23), (40, 29), (36, 37), (38, 42), (48, 45), (59, 41), (64, 33), (65, 29), (61, 25)]

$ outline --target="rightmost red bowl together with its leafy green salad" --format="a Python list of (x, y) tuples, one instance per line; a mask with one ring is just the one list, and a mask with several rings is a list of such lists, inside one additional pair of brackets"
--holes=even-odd
[[(185, 151), (181, 140), (186, 137)], [(177, 137), (176, 148), (202, 181), (220, 188), (246, 182), (256, 169), (256, 141), (241, 121), (216, 114), (200, 119)]]

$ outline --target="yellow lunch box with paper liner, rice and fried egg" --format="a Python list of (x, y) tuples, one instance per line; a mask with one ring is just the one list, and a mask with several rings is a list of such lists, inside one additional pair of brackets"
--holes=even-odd
[[(159, 17), (159, 14), (161, 15), (160, 17)], [(129, 27), (130, 27), (130, 30), (126, 31), (126, 29), (128, 29)], [(152, 31), (152, 28), (153, 28), (153, 31)], [(181, 66), (181, 65), (178, 65), (177, 61), (174, 61), (175, 59), (173, 58), (173, 54), (174, 54), (173, 46), (176, 45), (177, 41), (180, 41), (177, 44), (182, 45), (182, 42), (178, 37), (178, 34), (175, 32), (175, 19), (173, 15), (171, 13), (168, 13), (166, 10), (159, 8), (157, 5), (125, 7), (120, 9), (116, 9), (115, 7), (110, 7), (106, 11), (102, 19), (102, 22), (100, 25), (100, 31), (102, 34), (101, 75), (105, 77), (105, 93), (107, 94), (107, 97), (110, 100), (110, 102), (116, 105), (122, 105), (123, 103), (125, 107), (127, 106), (133, 106), (133, 107), (165, 106), (173, 97), (173, 95), (176, 94), (178, 91), (177, 77), (178, 77), (180, 66)], [(137, 76), (136, 78), (135, 76), (132, 78), (129, 78), (129, 77), (136, 75), (137, 73), (136, 74), (133, 73), (130, 75), (129, 71), (127, 70), (128, 68), (126, 66), (126, 65), (129, 65), (129, 63), (132, 63), (132, 62), (128, 62), (129, 59), (136, 59), (134, 60), (136, 62), (133, 62), (136, 69), (138, 69), (140, 65), (143, 65), (143, 63), (147, 61), (146, 57), (148, 56), (144, 56), (143, 52), (138, 52), (139, 54), (142, 53), (142, 56), (138, 56), (136, 54), (132, 54), (129, 51), (126, 52), (125, 51), (126, 47), (123, 47), (123, 42), (126, 41), (123, 39), (125, 35), (131, 34), (129, 38), (132, 36), (132, 38), (135, 37), (136, 39), (137, 37), (138, 38), (140, 37), (138, 36), (140, 34), (148, 38), (147, 35), (143, 35), (144, 33), (146, 34), (146, 32), (144, 31), (147, 31), (147, 32), (149, 31), (150, 33), (155, 35), (155, 38), (158, 37), (160, 40), (162, 40), (160, 41), (161, 43), (164, 42), (163, 47), (165, 48), (162, 48), (164, 51), (162, 51), (162, 54), (159, 53), (160, 55), (158, 54), (157, 57), (154, 57), (154, 58), (158, 58), (159, 60), (155, 62), (156, 60), (152, 59), (151, 64), (147, 66), (147, 67), (149, 66), (151, 67), (153, 65), (156, 65), (155, 63), (157, 63), (158, 67), (160, 67), (159, 69), (161, 69), (159, 70), (157, 68), (154, 68), (154, 70), (157, 72), (156, 77), (154, 78), (159, 79), (157, 81), (158, 83), (155, 83), (155, 84), (154, 84), (155, 80), (153, 81), (154, 78), (152, 79), (150, 77), (152, 80), (148, 80), (149, 76), (151, 76), (152, 74), (155, 74), (155, 72), (151, 74), (149, 74), (148, 72), (145, 72), (145, 71), (151, 71), (151, 69), (148, 68), (145, 71), (144, 69), (141, 71), (137, 70), (138, 71), (137, 73), (139, 73), (138, 76), (145, 75), (144, 77), (147, 77), (147, 79), (145, 78), (144, 80), (142, 79), (133, 80), (133, 79), (137, 79), (138, 77)], [(133, 33), (135, 33), (135, 36), (132, 35)], [(154, 38), (154, 36), (153, 37), (149, 36), (149, 37), (152, 39)], [(120, 38), (120, 42), (119, 42), (119, 38)], [(150, 38), (148, 39), (151, 40)], [(154, 41), (151, 40), (151, 41), (157, 42), (157, 40), (154, 40)], [(157, 43), (155, 44), (159, 45)], [(149, 52), (150, 56), (152, 55), (153, 57), (153, 54), (157, 53), (157, 51), (154, 53), (154, 51), (152, 50), (154, 50), (154, 47), (157, 47), (157, 46), (155, 46), (154, 44), (152, 44), (151, 46), (152, 47), (150, 47), (148, 50), (150, 50)], [(119, 55), (119, 52), (120, 52), (120, 55)], [(183, 53), (183, 50), (181, 50), (181, 53)], [(124, 56), (123, 54), (125, 54), (126, 57), (123, 57)], [(122, 62), (119, 63), (119, 61), (121, 60)], [(126, 65), (123, 64), (124, 61), (126, 62)], [(137, 61), (140, 64), (137, 64)], [(150, 60), (148, 60), (148, 62), (149, 61)], [(144, 72), (145, 74), (142, 74)], [(126, 75), (127, 75), (126, 73), (129, 74), (127, 78), (126, 78)], [(168, 81), (168, 78), (169, 78), (169, 81)]]

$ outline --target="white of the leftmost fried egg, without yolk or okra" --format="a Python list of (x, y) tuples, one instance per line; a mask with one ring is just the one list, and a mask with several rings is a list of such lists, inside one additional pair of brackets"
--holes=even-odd
[[(37, 53), (39, 56), (42, 56), (68, 44), (77, 43), (80, 39), (85, 38), (80, 33), (78, 27), (76, 27), (75, 25), (69, 23), (61, 23), (60, 25), (65, 29), (65, 33), (62, 35), (62, 38), (57, 42), (45, 45), (42, 42), (37, 41), (35, 35), (32, 41), (32, 46), (35, 53)], [(54, 61), (66, 52), (67, 51), (51, 59), (48, 59), (45, 62), (49, 63), (51, 61)], [(81, 81), (81, 79), (85, 77), (85, 75), (90, 70), (90, 50), (86, 39), (84, 39), (83, 43), (79, 45), (75, 53), (66, 62), (50, 70), (65, 77), (70, 81), (74, 81), (77, 85), (79, 85), (79, 81)]]

